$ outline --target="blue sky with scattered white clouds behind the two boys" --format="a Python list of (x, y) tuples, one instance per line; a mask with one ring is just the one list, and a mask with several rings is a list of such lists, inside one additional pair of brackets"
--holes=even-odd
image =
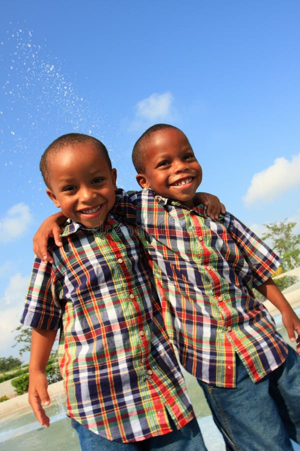
[(33, 261), (55, 211), (39, 158), (63, 133), (96, 136), (118, 185), (150, 125), (181, 128), (202, 190), (258, 234), (300, 233), (300, 3), (215, 0), (4, 2), (0, 15), (0, 357), (11, 348)]

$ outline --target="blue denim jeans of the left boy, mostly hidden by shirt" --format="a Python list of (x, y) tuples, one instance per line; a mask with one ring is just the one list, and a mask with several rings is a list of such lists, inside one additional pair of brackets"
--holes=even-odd
[(73, 428), (78, 433), (82, 451), (206, 451), (195, 418), (179, 430), (170, 420), (172, 432), (130, 443), (107, 440), (107, 438), (91, 432), (77, 421), (73, 419), (71, 421)]

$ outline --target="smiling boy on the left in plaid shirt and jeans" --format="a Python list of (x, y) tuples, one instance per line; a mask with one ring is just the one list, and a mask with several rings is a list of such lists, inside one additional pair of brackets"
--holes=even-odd
[(32, 327), (29, 402), (49, 425), (45, 366), (60, 327), (67, 413), (83, 451), (205, 450), (162, 326), (140, 243), (112, 212), (116, 171), (105, 146), (77, 133), (44, 152), (46, 192), (70, 218), (53, 264), (35, 258), (21, 322)]

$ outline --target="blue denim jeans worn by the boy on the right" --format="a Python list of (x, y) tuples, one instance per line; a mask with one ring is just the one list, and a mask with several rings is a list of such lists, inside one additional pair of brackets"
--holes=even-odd
[(292, 451), (300, 443), (300, 356), (288, 347), (286, 361), (253, 383), (236, 358), (236, 388), (198, 380), (226, 449)]

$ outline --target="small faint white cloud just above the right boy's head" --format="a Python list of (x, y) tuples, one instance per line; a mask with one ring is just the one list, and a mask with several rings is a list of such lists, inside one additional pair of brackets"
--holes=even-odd
[(149, 97), (136, 103), (135, 116), (131, 122), (131, 129), (145, 127), (147, 123), (172, 120), (172, 100), (170, 92), (153, 93)]

